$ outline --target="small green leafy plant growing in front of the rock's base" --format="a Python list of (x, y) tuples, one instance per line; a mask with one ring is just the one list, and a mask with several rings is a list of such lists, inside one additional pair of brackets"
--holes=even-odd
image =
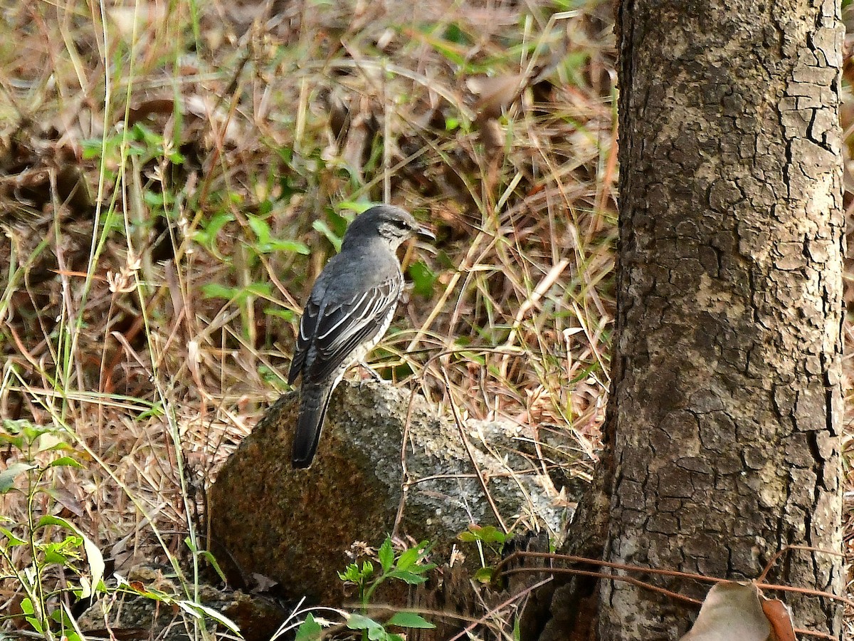
[[(338, 573), (338, 577), (345, 583), (355, 585), (359, 591), (361, 608), (359, 613), (345, 613), (347, 627), (350, 630), (362, 633), (363, 641), (403, 641), (400, 634), (389, 632), (388, 626), (433, 628), (436, 627), (430, 621), (414, 612), (395, 612), (389, 620), (384, 623), (371, 619), (367, 615), (371, 603), (371, 597), (377, 587), (385, 581), (400, 580), (408, 585), (419, 585), (427, 580), (426, 574), (430, 572), (435, 563), (427, 561), (432, 545), (422, 541), (417, 546), (407, 548), (400, 554), (395, 554), (391, 544), (391, 538), (386, 537), (383, 544), (377, 550), (379, 561), (379, 573), (376, 572), (373, 563), (363, 561), (351, 563), (347, 569)], [(313, 615), (309, 614), (306, 620), (296, 632), (298, 641), (309, 641), (320, 637), (322, 627)]]

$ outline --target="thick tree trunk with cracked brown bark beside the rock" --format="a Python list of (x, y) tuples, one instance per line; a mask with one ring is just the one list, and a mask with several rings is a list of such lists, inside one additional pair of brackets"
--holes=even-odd
[[(840, 550), (839, 5), (622, 0), (617, 23), (611, 451), (570, 550), (733, 579), (787, 544)], [(839, 593), (843, 575), (790, 552), (769, 580)], [(576, 579), (541, 639), (597, 625), (567, 612), (585, 590), (600, 639), (678, 638), (696, 614)], [(839, 636), (833, 602), (785, 599)]]

